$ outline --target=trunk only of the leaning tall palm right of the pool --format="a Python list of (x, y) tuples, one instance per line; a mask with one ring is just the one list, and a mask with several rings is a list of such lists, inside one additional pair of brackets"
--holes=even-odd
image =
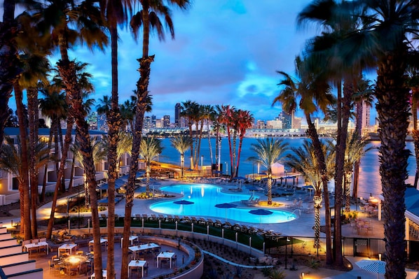
[(317, 166), (319, 168), (319, 173), (322, 177), (322, 185), (323, 185), (323, 199), (324, 199), (324, 227), (326, 229), (326, 263), (332, 264), (333, 259), (333, 251), (331, 249), (331, 220), (330, 220), (330, 201), (329, 201), (329, 189), (327, 187), (327, 183), (329, 179), (327, 177), (327, 169), (326, 169), (326, 161), (324, 159), (324, 154), (322, 151), (322, 143), (320, 143), (319, 134), (317, 134), (317, 130), (313, 122), (311, 121), (311, 117), (309, 113), (305, 113), (305, 119), (308, 123), (308, 136), (312, 141), (312, 145), (315, 148), (315, 157), (317, 160)]

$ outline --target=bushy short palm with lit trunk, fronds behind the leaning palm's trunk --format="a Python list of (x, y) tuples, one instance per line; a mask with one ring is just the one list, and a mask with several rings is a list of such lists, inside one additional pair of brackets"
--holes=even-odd
[[(322, 173), (317, 166), (315, 148), (312, 141), (305, 140), (299, 148), (291, 147), (293, 151), (286, 159), (285, 164), (296, 169), (303, 175), (305, 180), (310, 181), (314, 188), (314, 208), (315, 208), (315, 248), (320, 248), (320, 208), (322, 207), (322, 194), (324, 192), (324, 180)], [(331, 141), (322, 143), (322, 152), (326, 159), (327, 170), (325, 174), (332, 178), (334, 174), (334, 146)], [(329, 194), (329, 193), (326, 193)], [(327, 208), (326, 208), (327, 211)]]

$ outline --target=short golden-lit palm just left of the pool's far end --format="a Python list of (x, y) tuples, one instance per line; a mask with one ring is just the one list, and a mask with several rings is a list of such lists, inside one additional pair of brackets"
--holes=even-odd
[(161, 141), (153, 137), (143, 138), (139, 145), (139, 157), (146, 163), (146, 196), (150, 196), (151, 162), (160, 155), (162, 150)]

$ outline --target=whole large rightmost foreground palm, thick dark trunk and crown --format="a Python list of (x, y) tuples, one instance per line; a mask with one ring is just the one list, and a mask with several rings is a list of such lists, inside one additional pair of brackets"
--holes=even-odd
[(409, 113), (406, 58), (409, 38), (412, 34), (416, 36), (418, 31), (417, 3), (411, 0), (369, 0), (352, 1), (352, 4), (366, 11), (357, 15), (368, 24), (350, 33), (345, 43), (355, 47), (352, 52), (367, 52), (369, 57), (376, 57), (378, 66), (375, 95), (381, 141), (380, 174), (387, 263), (385, 278), (405, 278), (404, 192), (408, 157), (405, 140)]

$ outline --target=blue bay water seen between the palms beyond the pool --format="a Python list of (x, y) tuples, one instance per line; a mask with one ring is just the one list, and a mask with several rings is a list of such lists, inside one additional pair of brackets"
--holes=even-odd
[[(298, 147), (304, 141), (304, 138), (284, 138), (284, 141), (289, 143), (289, 147)], [(160, 162), (170, 162), (172, 164), (180, 164), (180, 155), (177, 150), (175, 150), (170, 145), (170, 138), (164, 138), (162, 140), (162, 145), (164, 147), (162, 154), (159, 157)], [(247, 161), (247, 158), (255, 156), (250, 150), (252, 143), (257, 143), (256, 138), (244, 138), (242, 146), (242, 154), (240, 155), (240, 167), (239, 167), (239, 176), (245, 176), (250, 173), (259, 173), (263, 171), (261, 166), (258, 170), (257, 164)], [(214, 148), (215, 148), (215, 139), (211, 139), (211, 145), (213, 150), (213, 157), (215, 158)], [(380, 142), (371, 141), (369, 146), (373, 146), (372, 150), (366, 153), (362, 158), (361, 167), (359, 169), (359, 196), (369, 196), (370, 194), (377, 196), (381, 194), (381, 183), (380, 183), (380, 173), (379, 173), (379, 161), (378, 161), (378, 147)], [(406, 143), (406, 149), (411, 151), (411, 156), (408, 158), (408, 179), (406, 183), (413, 185), (415, 177), (415, 156), (414, 156), (414, 146), (413, 142)], [(291, 150), (290, 150), (291, 152)], [(207, 138), (202, 138), (200, 156), (202, 155), (202, 164), (204, 166), (209, 166), (211, 160), (209, 158), (209, 145)], [(190, 156), (189, 150), (186, 151), (185, 157)], [(230, 171), (230, 155), (228, 151), (228, 139), (223, 138), (221, 143), (221, 163), (223, 164), (223, 172), (226, 173), (226, 169)], [(199, 166), (201, 161), (199, 162)], [(226, 168), (227, 166), (227, 168)], [(188, 168), (188, 159), (185, 159), (185, 167)], [(333, 187), (334, 183), (330, 183), (329, 187)], [(329, 188), (330, 189), (330, 188)], [(332, 189), (333, 190), (333, 189)]]

